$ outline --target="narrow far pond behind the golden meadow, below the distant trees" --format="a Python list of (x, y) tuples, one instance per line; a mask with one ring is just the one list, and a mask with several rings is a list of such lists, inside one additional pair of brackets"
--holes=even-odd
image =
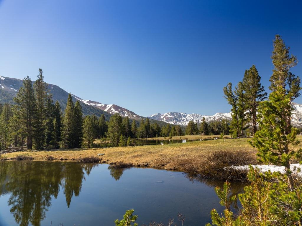
[[(213, 140), (214, 138), (207, 139), (183, 139), (183, 140), (133, 140), (132, 142), (135, 146), (143, 145), (166, 145), (166, 144), (176, 144), (176, 143), (187, 143), (201, 140)], [(94, 148), (107, 148), (111, 147), (111, 143), (94, 143)]]

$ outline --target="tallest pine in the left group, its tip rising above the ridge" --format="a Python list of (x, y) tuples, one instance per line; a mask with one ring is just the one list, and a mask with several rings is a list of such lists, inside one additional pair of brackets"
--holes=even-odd
[(44, 82), (41, 68), (39, 68), (38, 79), (34, 82), (34, 92), (37, 112), (34, 120), (34, 146), (36, 149), (44, 149), (47, 84)]

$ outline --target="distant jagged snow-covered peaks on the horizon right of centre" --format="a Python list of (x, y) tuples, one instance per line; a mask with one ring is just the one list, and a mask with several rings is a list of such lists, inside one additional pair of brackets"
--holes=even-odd
[(165, 114), (156, 113), (148, 118), (164, 121), (170, 124), (187, 125), (189, 121), (201, 123), (203, 117), (206, 120), (206, 122), (221, 121), (222, 119), (231, 120), (230, 113), (216, 113), (215, 115), (208, 116), (208, 115), (199, 115), (199, 114), (169, 112)]

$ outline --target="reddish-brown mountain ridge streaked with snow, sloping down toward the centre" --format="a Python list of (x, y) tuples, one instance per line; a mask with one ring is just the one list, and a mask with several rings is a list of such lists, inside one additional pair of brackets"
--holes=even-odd
[(139, 116), (139, 115), (135, 114), (133, 111), (129, 111), (128, 109), (122, 108), (122, 107), (117, 106), (115, 104), (101, 104), (99, 102), (92, 101), (92, 100), (84, 100), (84, 99), (79, 98), (78, 96), (75, 96), (73, 94), (71, 96), (73, 96), (74, 98), (78, 99), (79, 101), (83, 102), (86, 105), (93, 106), (95, 108), (106, 111), (110, 114), (114, 114), (115, 112), (117, 112), (123, 117), (128, 116), (129, 118), (133, 118), (133, 119), (143, 118), (142, 116)]

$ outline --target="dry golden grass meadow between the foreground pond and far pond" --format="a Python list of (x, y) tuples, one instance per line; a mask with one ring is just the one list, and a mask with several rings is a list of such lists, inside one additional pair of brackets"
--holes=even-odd
[[(185, 171), (190, 165), (201, 164), (209, 153), (214, 151), (246, 150), (255, 154), (256, 149), (252, 148), (247, 142), (250, 138), (226, 139), (226, 140), (207, 140), (188, 143), (177, 143), (170, 145), (148, 145), (136, 147), (111, 147), (111, 148), (82, 148), (82, 149), (63, 149), (47, 151), (24, 151), (13, 152), (1, 155), (2, 158), (15, 158), (17, 155), (32, 156), (34, 160), (47, 160), (52, 156), (56, 160), (75, 161), (80, 158), (97, 156), (98, 153), (105, 155), (99, 156), (101, 162), (115, 164), (123, 162), (133, 166), (145, 166), (170, 170)], [(302, 136), (298, 136), (302, 140)], [(294, 149), (302, 148), (302, 143)]]

